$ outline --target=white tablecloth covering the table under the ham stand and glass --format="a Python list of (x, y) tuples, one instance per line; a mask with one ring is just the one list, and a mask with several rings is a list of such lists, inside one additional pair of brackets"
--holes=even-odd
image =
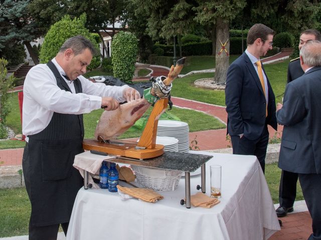
[[(222, 165), (221, 202), (212, 208), (186, 208), (182, 177), (175, 191), (161, 192), (156, 203), (121, 200), (107, 189), (81, 188), (75, 200), (67, 239), (268, 239), (280, 229), (265, 177), (255, 156), (210, 153), (206, 194), (210, 195), (212, 164)], [(191, 176), (191, 194), (201, 176)]]

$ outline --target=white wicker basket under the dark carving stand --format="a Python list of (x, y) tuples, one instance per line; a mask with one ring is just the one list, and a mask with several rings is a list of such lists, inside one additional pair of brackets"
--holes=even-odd
[(182, 171), (155, 169), (131, 165), (138, 183), (155, 191), (174, 191), (181, 179)]

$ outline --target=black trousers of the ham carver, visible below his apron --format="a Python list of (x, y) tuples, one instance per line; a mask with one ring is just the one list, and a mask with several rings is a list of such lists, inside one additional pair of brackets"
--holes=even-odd
[[(65, 235), (67, 235), (69, 222), (61, 223)], [(29, 240), (57, 240), (59, 224), (49, 226), (33, 226), (31, 218), (29, 222)]]

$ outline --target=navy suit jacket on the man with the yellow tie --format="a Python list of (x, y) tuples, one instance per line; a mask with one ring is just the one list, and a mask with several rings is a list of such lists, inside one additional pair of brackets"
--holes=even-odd
[(275, 96), (268, 78), (267, 85), (268, 115), (265, 117), (265, 95), (248, 55), (244, 52), (230, 65), (225, 87), (227, 132), (230, 135), (244, 133), (246, 138), (255, 140), (260, 137), (266, 124), (277, 129)]

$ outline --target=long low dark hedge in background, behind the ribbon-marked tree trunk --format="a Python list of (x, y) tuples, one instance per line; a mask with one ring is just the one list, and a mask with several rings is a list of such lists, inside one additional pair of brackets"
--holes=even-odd
[[(231, 37), (230, 41), (230, 54), (242, 54), (242, 38)], [(243, 38), (243, 42), (245, 50), (246, 38)], [(153, 52), (155, 52), (156, 48), (162, 48), (164, 50), (164, 56), (173, 56), (174, 54), (173, 45), (154, 44)], [(176, 52), (179, 52), (179, 45), (176, 46)], [(212, 55), (212, 41), (190, 42), (182, 44), (182, 54), (184, 56)]]

